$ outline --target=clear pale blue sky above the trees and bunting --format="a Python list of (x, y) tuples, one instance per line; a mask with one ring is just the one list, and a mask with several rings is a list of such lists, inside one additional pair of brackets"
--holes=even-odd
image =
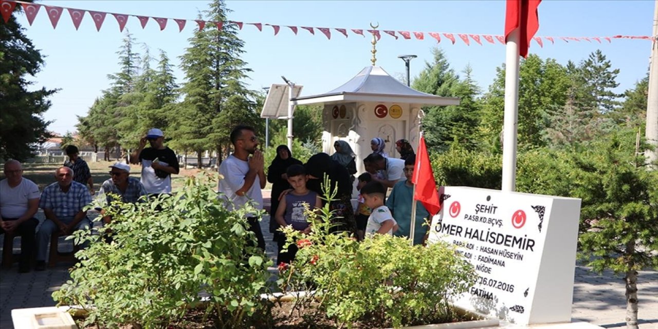
[[(207, 1), (39, 1), (43, 5), (107, 11), (112, 13), (195, 19), (207, 7)], [(370, 64), (370, 38), (342, 34), (332, 30), (326, 39), (316, 31), (312, 36), (299, 30), (295, 36), (285, 25), (329, 28), (368, 29), (370, 22), (378, 22), (380, 30), (419, 32), (455, 32), (467, 34), (503, 34), (505, 1), (227, 1), (233, 12), (230, 20), (262, 22), (281, 25), (278, 36), (270, 26), (259, 32), (255, 26), (245, 25), (240, 38), (245, 41), (243, 59), (253, 69), (251, 88), (258, 89), (272, 83), (282, 83), (280, 76), (304, 86), (302, 95), (323, 93), (336, 88)], [(544, 0), (539, 7), (538, 36), (615, 36), (651, 34), (653, 5), (644, 1), (556, 1)], [(26, 28), (45, 55), (45, 67), (34, 78), (34, 88), (61, 88), (51, 97), (53, 106), (45, 118), (54, 122), (53, 132), (64, 134), (75, 130), (76, 115), (86, 115), (101, 90), (109, 87), (107, 74), (118, 70), (116, 51), (124, 38), (113, 16), (108, 15), (100, 32), (88, 14), (75, 30), (68, 12), (62, 14), (57, 29), (53, 30), (45, 11), (41, 9), (32, 26), (21, 14), (18, 22)], [(135, 17), (128, 19), (126, 28), (151, 52), (166, 51), (172, 63), (188, 47), (196, 24), (188, 22), (182, 32), (172, 20), (160, 31), (155, 20), (145, 29)], [(427, 34), (424, 40), (394, 39), (382, 33), (377, 45), (377, 64), (389, 74), (405, 72), (402, 54), (418, 55), (411, 62), (411, 76), (416, 76), (431, 61), (431, 49), (441, 47), (458, 72), (470, 64), (476, 82), (486, 91), (495, 76), (495, 68), (505, 61), (505, 47), (499, 43), (483, 46), (473, 41), (465, 45), (459, 38), (452, 45), (445, 38), (437, 44)], [(542, 58), (553, 58), (559, 63), (579, 62), (592, 51), (601, 49), (619, 68), (618, 91), (632, 88), (642, 78), (649, 64), (651, 43), (647, 40), (613, 39), (612, 43), (596, 41), (555, 44), (544, 41), (544, 47), (532, 43), (530, 53)], [(140, 49), (143, 53), (143, 50)], [(183, 76), (176, 68), (178, 82)]]

